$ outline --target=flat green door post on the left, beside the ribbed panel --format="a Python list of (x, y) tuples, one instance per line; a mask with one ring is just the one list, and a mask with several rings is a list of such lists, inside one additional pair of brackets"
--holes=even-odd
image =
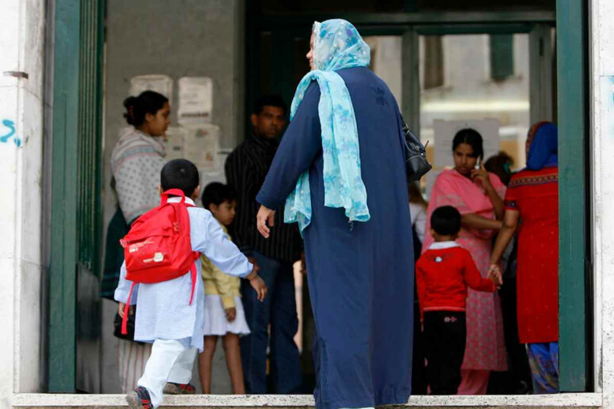
[(55, 1), (49, 392), (74, 392), (77, 359), (79, 0)]

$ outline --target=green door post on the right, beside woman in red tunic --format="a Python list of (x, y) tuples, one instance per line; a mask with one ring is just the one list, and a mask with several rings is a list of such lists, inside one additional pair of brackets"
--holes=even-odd
[[(557, 0), (559, 126), (559, 389), (594, 388), (588, 20), (585, 0)], [(584, 193), (584, 194), (583, 194)], [(583, 331), (582, 331), (583, 330)]]

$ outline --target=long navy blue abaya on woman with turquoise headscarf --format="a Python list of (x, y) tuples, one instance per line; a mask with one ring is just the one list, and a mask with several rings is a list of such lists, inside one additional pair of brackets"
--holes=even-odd
[(394, 96), (373, 72), (337, 73), (356, 114), (371, 219), (349, 223), (343, 208), (324, 206), (316, 82), (284, 134), (257, 201), (280, 208), (309, 170), (313, 215), (303, 237), (317, 332), (317, 408), (403, 404), (411, 394), (414, 254), (402, 121)]

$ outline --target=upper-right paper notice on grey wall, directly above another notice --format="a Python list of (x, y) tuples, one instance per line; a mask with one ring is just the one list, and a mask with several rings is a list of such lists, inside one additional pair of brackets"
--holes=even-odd
[(179, 121), (211, 122), (213, 81), (209, 77), (179, 78)]

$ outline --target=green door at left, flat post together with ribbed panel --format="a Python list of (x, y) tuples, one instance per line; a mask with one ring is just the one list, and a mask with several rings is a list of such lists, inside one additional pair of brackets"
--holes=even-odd
[(49, 391), (99, 392), (101, 0), (56, 0)]

